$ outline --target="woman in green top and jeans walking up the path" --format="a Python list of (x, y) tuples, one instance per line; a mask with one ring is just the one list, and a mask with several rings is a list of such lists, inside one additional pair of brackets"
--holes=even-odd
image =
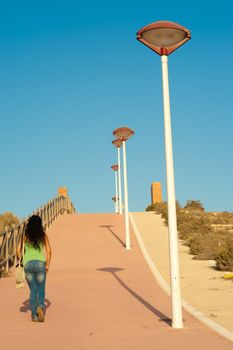
[[(20, 258), (20, 246), (17, 249)], [(49, 271), (51, 247), (42, 220), (32, 215), (25, 228), (23, 266), (30, 288), (30, 308), (33, 322), (44, 322), (46, 273)]]

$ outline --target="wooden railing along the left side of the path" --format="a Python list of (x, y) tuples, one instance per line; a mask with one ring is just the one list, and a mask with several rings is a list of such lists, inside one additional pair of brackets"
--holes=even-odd
[[(49, 228), (59, 215), (65, 213), (74, 214), (75, 208), (68, 196), (61, 195), (33, 211), (34, 215), (41, 217), (45, 229)], [(28, 218), (24, 219), (19, 225), (6, 228), (4, 232), (0, 233), (0, 277), (4, 274), (7, 275), (10, 268), (16, 265), (16, 249), (21, 244), (22, 250), (23, 234)]]

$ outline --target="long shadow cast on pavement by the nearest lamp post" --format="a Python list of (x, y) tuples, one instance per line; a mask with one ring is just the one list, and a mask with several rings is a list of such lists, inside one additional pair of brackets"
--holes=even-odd
[(123, 281), (122, 279), (117, 275), (117, 272), (122, 271), (124, 269), (120, 267), (103, 267), (100, 269), (97, 269), (98, 271), (102, 272), (109, 272), (112, 274), (112, 276), (120, 283), (122, 287), (124, 287), (127, 292), (129, 292), (135, 299), (137, 299), (142, 305), (144, 305), (148, 310), (150, 310), (154, 315), (159, 317), (161, 322), (167, 323), (170, 327), (172, 326), (172, 320), (164, 315), (161, 311), (156, 309), (153, 305), (148, 303), (145, 299), (143, 299), (140, 295), (135, 293), (131, 288), (129, 288)]

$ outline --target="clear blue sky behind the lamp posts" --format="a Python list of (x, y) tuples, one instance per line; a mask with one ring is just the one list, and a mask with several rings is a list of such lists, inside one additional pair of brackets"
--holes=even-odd
[(111, 212), (127, 143), (129, 210), (166, 198), (160, 57), (136, 41), (157, 20), (192, 39), (169, 56), (176, 198), (233, 211), (233, 3), (11, 1), (0, 11), (0, 213), (23, 217), (67, 186), (78, 211)]

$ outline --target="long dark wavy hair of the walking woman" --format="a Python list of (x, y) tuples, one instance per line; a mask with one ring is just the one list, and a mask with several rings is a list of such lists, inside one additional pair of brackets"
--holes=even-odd
[(42, 220), (38, 215), (32, 215), (25, 228), (26, 241), (34, 248), (40, 249), (41, 244), (45, 244), (45, 231)]

